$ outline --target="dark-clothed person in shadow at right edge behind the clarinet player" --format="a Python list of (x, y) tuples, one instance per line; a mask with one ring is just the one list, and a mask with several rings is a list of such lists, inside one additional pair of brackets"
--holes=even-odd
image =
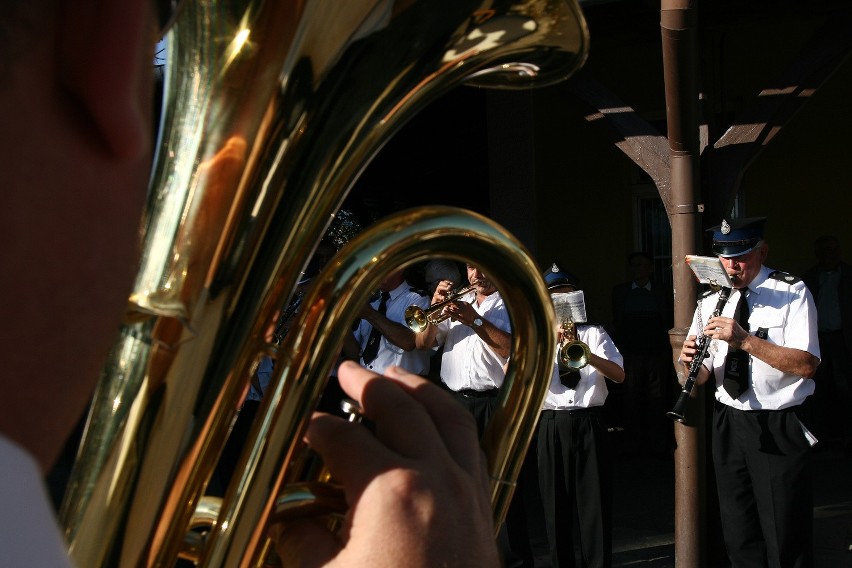
[(802, 280), (814, 296), (819, 314), (822, 362), (814, 375), (816, 434), (839, 439), (852, 456), (852, 266), (843, 262), (840, 241), (823, 235), (814, 241), (817, 264)]

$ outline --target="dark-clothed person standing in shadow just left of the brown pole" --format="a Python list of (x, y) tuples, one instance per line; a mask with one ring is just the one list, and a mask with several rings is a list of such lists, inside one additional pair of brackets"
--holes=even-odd
[(667, 456), (674, 430), (666, 411), (678, 390), (669, 345), (674, 299), (671, 289), (654, 281), (651, 255), (632, 252), (627, 264), (630, 280), (612, 289), (613, 321), (608, 329), (624, 357), (627, 377), (613, 389), (624, 426), (624, 453)]

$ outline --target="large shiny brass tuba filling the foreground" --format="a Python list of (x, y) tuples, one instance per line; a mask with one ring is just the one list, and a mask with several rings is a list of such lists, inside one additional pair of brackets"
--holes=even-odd
[[(461, 84), (548, 85), (582, 65), (576, 2), (187, 0), (168, 45), (140, 268), (60, 511), (79, 566), (170, 566), (181, 554), (257, 565), (266, 519), (296, 476), (293, 441), (378, 271), (433, 254), (482, 259), (498, 285), (523, 292), (522, 304), (507, 297), (517, 337), (552, 343), (528, 254), (493, 223), (442, 208), (365, 232), (312, 286), (299, 333), (276, 346), (263, 331), (358, 174), (419, 109)], [(534, 317), (515, 317), (525, 309)], [(549, 378), (536, 361), (552, 351), (531, 349), (515, 341), (483, 439), (498, 522)], [(206, 485), (262, 355), (277, 361), (275, 394), (246, 467), (208, 508)], [(212, 529), (192, 540), (199, 516)]]

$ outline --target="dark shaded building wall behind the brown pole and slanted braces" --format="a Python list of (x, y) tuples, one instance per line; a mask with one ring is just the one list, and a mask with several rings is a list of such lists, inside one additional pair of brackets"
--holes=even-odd
[[(702, 92), (708, 110), (719, 113), (710, 121), (711, 144), (724, 132), (724, 121), (736, 120), (761, 89), (785, 86), (773, 79), (784, 75), (822, 23), (813, 14), (799, 20), (789, 14), (753, 15), (702, 30)], [(649, 123), (664, 119), (659, 35), (599, 37), (593, 29), (591, 45), (582, 72)], [(769, 264), (775, 268), (801, 274), (813, 264), (813, 239), (825, 233), (836, 234), (852, 250), (850, 92), (852, 62), (847, 60), (743, 172), (740, 214), (769, 217)], [(626, 278), (624, 256), (638, 246), (630, 187), (635, 166), (559, 87), (536, 91), (533, 101), (536, 258), (542, 265), (555, 260), (576, 273), (590, 317), (608, 321), (609, 290)], [(704, 226), (718, 221), (699, 217)]]

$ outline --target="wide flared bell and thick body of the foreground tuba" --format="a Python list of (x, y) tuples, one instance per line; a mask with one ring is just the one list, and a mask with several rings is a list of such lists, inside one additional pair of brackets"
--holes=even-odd
[(140, 268), (59, 515), (79, 566), (174, 564), (259, 354), (295, 357), (271, 314), (387, 140), (452, 88), (551, 85), (588, 49), (574, 0), (344, 4), (182, 6)]

